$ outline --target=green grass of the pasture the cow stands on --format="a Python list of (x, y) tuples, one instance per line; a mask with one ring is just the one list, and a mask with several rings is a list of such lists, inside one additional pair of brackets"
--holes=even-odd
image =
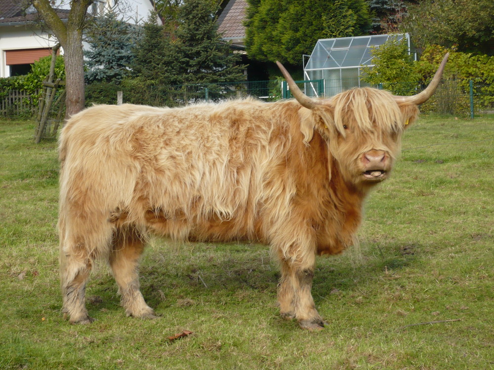
[[(141, 267), (159, 319), (125, 317), (102, 265), (86, 292), (97, 320), (68, 324), (56, 143), (33, 144), (33, 129), (0, 121), (0, 369), (494, 368), (493, 118), (410, 127), (393, 177), (367, 202), (360, 249), (318, 259), (319, 333), (279, 317), (267, 247), (162, 239)], [(167, 340), (182, 330), (194, 333)]]

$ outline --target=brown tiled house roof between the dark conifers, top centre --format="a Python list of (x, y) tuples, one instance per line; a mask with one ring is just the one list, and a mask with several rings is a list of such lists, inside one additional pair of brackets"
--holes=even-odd
[[(1, 0), (0, 0), (1, 1)], [(246, 28), (244, 19), (246, 16), (247, 0), (230, 0), (218, 17), (218, 32), (223, 38), (244, 38)]]

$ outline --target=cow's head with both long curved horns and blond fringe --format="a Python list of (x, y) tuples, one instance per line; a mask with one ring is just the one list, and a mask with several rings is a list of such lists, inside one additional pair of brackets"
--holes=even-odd
[(300, 91), (287, 70), (278, 67), (290, 91), (304, 107), (299, 111), (300, 129), (308, 144), (314, 130), (328, 142), (329, 155), (343, 178), (359, 187), (386, 179), (400, 150), (403, 130), (417, 116), (417, 106), (427, 101), (437, 88), (449, 53), (445, 55), (427, 88), (413, 96), (358, 88), (330, 99), (312, 99)]

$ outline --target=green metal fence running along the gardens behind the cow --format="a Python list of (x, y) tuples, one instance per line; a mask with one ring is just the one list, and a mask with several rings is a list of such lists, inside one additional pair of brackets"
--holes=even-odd
[[(343, 90), (349, 81), (305, 80), (295, 81), (310, 97), (330, 97)], [(347, 83), (348, 82), (348, 83)], [(352, 83), (355, 81), (352, 79)], [(335, 88), (339, 85), (341, 88)], [(369, 86), (359, 81), (359, 86)], [(410, 83), (408, 83), (410, 85)], [(330, 86), (330, 89), (328, 89)], [(412, 92), (418, 93), (426, 84), (417, 83)], [(382, 85), (374, 86), (383, 88)], [(404, 91), (399, 84), (387, 85), (396, 91)], [(407, 86), (410, 90), (410, 86)], [(124, 103), (177, 107), (199, 102), (219, 102), (227, 99), (251, 96), (264, 101), (276, 101), (291, 97), (286, 81), (242, 81), (210, 84), (184, 84), (179, 86), (148, 86), (139, 91), (124, 91)], [(443, 80), (437, 91), (420, 110), (424, 113), (453, 114), (462, 117), (494, 114), (494, 87), (479, 80)]]

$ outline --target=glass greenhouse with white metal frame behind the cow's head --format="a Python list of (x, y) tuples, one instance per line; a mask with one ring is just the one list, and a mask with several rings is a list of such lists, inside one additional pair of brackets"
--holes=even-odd
[(361, 79), (361, 67), (371, 65), (371, 48), (390, 38), (407, 39), (409, 53), (416, 58), (408, 34), (372, 35), (327, 38), (317, 41), (307, 63), (304, 76), (308, 80), (324, 79), (324, 92), (332, 96), (352, 87), (368, 86)]

